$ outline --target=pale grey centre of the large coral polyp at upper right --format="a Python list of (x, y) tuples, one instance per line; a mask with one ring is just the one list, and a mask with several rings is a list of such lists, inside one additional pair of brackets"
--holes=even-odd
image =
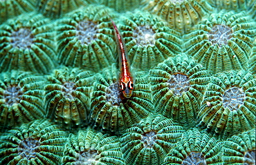
[(228, 39), (232, 37), (232, 29), (225, 25), (215, 25), (208, 35), (212, 44), (218, 44), (221, 47), (228, 44)]

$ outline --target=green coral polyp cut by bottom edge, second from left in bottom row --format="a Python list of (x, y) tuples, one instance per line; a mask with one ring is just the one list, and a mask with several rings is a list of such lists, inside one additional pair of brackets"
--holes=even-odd
[(125, 165), (117, 137), (107, 137), (87, 128), (68, 137), (64, 164), (120, 164)]

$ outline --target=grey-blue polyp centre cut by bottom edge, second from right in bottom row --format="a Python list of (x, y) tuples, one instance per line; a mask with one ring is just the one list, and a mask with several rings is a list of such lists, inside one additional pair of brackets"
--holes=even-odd
[(191, 152), (182, 162), (183, 165), (206, 165), (205, 157), (202, 153)]

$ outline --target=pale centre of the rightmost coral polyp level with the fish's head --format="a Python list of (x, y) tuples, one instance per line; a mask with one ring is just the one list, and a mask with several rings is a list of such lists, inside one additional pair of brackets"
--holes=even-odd
[(244, 92), (237, 87), (232, 87), (226, 90), (222, 96), (223, 107), (229, 110), (237, 110), (239, 106), (244, 104)]

